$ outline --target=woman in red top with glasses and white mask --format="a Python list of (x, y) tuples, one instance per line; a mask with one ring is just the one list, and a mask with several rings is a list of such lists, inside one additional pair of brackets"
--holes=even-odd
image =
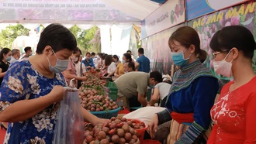
[(251, 64), (254, 36), (244, 26), (227, 26), (210, 42), (217, 74), (234, 77), (213, 105), (209, 144), (256, 143), (256, 77)]

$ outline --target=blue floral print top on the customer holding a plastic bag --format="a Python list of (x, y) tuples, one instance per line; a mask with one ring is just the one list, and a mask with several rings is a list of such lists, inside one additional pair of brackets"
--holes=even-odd
[[(16, 61), (9, 67), (2, 81), (0, 111), (16, 101), (44, 96), (50, 93), (54, 85), (65, 86), (61, 73), (55, 74), (54, 78), (47, 78), (35, 70), (29, 60)], [(55, 103), (26, 121), (9, 123), (4, 144), (52, 143), (59, 107), (59, 103)]]

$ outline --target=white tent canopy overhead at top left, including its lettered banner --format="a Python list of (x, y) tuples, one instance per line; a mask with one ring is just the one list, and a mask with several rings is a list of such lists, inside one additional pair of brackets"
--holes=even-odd
[(2, 0), (2, 23), (138, 23), (166, 0)]

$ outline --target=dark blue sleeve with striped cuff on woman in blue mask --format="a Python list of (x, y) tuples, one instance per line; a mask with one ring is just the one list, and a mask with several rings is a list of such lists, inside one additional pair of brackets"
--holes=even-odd
[(202, 138), (203, 133), (209, 129), (211, 122), (210, 110), (219, 89), (218, 81), (215, 77), (199, 77), (193, 85), (195, 85), (192, 99), (195, 122), (175, 142), (176, 144), (196, 143)]

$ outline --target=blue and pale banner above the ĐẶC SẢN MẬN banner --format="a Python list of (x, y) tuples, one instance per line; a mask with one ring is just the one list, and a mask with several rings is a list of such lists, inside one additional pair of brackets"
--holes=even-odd
[(186, 0), (186, 19), (195, 19), (200, 15), (247, 1), (249, 0)]

